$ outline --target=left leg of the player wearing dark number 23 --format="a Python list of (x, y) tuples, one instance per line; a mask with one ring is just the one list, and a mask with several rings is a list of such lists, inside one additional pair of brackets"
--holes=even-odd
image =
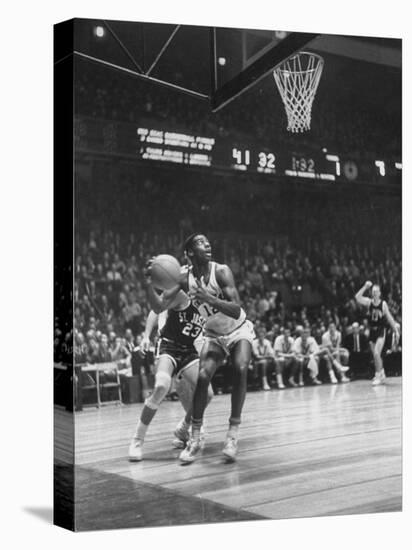
[(158, 358), (153, 392), (144, 402), (136, 433), (129, 446), (129, 460), (132, 462), (137, 462), (143, 458), (142, 447), (147, 429), (159, 405), (169, 391), (174, 368), (175, 363), (171, 356), (161, 355)]

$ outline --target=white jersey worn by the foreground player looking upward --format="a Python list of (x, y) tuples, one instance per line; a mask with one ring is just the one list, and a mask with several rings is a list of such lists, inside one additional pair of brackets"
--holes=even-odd
[[(220, 298), (221, 300), (224, 300), (225, 297), (223, 295), (222, 289), (217, 283), (216, 280), (216, 262), (210, 262), (210, 277), (209, 281), (206, 285), (206, 290), (212, 294), (213, 296), (216, 296), (217, 298)], [(188, 272), (188, 288), (189, 292), (193, 292), (197, 288), (196, 279), (191, 271)], [(243, 308), (240, 309), (240, 316), (238, 319), (233, 319), (233, 317), (229, 317), (228, 315), (225, 315), (221, 311), (218, 311), (217, 309), (213, 308), (209, 304), (200, 303), (196, 299), (192, 300), (193, 305), (199, 310), (200, 315), (206, 319), (206, 325), (205, 325), (205, 334), (210, 336), (225, 336), (227, 334), (230, 334), (237, 328), (239, 328), (243, 323), (246, 321), (246, 313), (243, 310)]]

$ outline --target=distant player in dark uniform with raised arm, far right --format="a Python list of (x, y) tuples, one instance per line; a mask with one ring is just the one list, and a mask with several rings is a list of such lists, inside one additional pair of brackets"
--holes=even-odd
[[(371, 289), (372, 298), (364, 296), (367, 290)], [(363, 287), (355, 295), (356, 301), (367, 308), (367, 319), (370, 326), (369, 345), (375, 364), (375, 377), (372, 381), (374, 386), (385, 382), (385, 371), (383, 369), (382, 350), (385, 344), (386, 327), (389, 324), (393, 330), (396, 340), (399, 340), (399, 329), (392, 317), (388, 304), (382, 300), (379, 285), (366, 281)]]

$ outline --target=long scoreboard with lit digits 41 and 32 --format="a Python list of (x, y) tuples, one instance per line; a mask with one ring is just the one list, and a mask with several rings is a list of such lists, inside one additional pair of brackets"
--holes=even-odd
[[(153, 121), (152, 121), (153, 124)], [(144, 163), (169, 163), (323, 181), (381, 181), (400, 176), (402, 164), (387, 159), (359, 158), (331, 153), (280, 148), (278, 144), (245, 143), (237, 138), (192, 134), (152, 124), (75, 121), (78, 151), (134, 158)], [(289, 150), (288, 150), (289, 149)]]

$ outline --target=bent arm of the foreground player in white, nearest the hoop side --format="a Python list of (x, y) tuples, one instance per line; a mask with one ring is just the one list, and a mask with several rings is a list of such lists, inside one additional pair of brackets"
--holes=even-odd
[(228, 317), (239, 319), (241, 311), (240, 298), (230, 267), (227, 265), (221, 265), (219, 269), (216, 270), (216, 280), (222, 290), (225, 300), (221, 300), (220, 298), (210, 294), (207, 291), (203, 280), (197, 281), (198, 286), (194, 293), (195, 298), (201, 302), (209, 304), (211, 307), (217, 309)]

